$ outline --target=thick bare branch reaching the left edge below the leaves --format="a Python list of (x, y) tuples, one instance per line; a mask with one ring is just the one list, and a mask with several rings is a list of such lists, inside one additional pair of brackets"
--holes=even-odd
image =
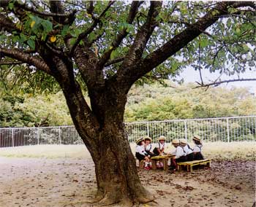
[(31, 66), (35, 66), (37, 69), (41, 71), (45, 71), (48, 74), (51, 74), (50, 68), (45, 63), (45, 61), (36, 58), (32, 55), (29, 55), (25, 52), (22, 52), (17, 49), (6, 49), (0, 47), (0, 57), (7, 56), (16, 60), (19, 60), (23, 63), (27, 63)]

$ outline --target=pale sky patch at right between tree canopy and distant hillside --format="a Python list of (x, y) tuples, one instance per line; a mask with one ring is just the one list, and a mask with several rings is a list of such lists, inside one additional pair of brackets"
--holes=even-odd
[[(187, 68), (180, 74), (180, 77), (184, 79), (184, 82), (200, 82), (200, 74), (199, 71), (195, 71), (195, 69)], [(210, 73), (208, 70), (202, 70), (203, 82), (213, 82), (217, 77), (219, 77), (219, 73)], [(221, 79), (237, 79), (237, 75), (233, 76), (225, 76), (222, 75)], [(240, 75), (240, 78), (255, 78), (256, 79), (256, 70), (254, 71), (246, 71), (244, 74)], [(246, 81), (246, 82), (230, 82), (223, 83), (219, 85), (220, 87), (249, 87), (251, 93), (256, 94), (256, 81)]]

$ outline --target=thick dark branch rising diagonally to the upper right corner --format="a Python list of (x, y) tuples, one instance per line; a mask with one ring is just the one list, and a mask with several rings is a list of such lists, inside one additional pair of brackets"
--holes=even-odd
[(178, 50), (185, 47), (189, 42), (195, 39), (197, 36), (202, 34), (202, 31), (205, 31), (206, 28), (213, 25), (219, 17), (226, 15), (227, 8), (232, 7), (233, 4), (236, 4), (236, 7), (245, 7), (250, 6), (252, 2), (236, 2), (236, 1), (223, 1), (219, 2), (214, 9), (211, 9), (205, 16), (201, 17), (196, 23), (193, 23), (192, 26), (188, 26), (180, 34), (170, 39), (162, 47), (155, 50), (149, 54), (145, 59), (138, 63), (138, 67), (130, 66), (129, 69), (121, 71), (121, 79), (129, 79), (130, 85), (135, 82), (140, 77), (143, 77), (149, 71), (159, 66), (171, 55), (174, 55)]

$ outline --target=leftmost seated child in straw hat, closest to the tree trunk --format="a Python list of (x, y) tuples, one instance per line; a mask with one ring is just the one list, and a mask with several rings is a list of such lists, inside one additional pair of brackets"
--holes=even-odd
[(138, 138), (138, 140), (136, 141), (136, 153), (135, 156), (136, 158), (141, 161), (144, 160), (145, 161), (145, 170), (149, 170), (150, 169), (150, 156), (148, 156), (148, 154), (145, 151), (145, 147), (144, 147), (144, 138), (140, 137)]

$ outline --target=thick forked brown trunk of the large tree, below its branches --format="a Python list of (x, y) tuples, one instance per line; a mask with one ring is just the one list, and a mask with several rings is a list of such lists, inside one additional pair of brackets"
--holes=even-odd
[(96, 202), (132, 206), (133, 203), (154, 200), (140, 183), (135, 157), (125, 136), (123, 119), (127, 95), (120, 93), (116, 85), (102, 93), (89, 93), (91, 104), (99, 105), (91, 106), (91, 115), (83, 117), (85, 103), (81, 101), (80, 88), (71, 87), (66, 82), (63, 91), (75, 128), (95, 164), (98, 190)]

